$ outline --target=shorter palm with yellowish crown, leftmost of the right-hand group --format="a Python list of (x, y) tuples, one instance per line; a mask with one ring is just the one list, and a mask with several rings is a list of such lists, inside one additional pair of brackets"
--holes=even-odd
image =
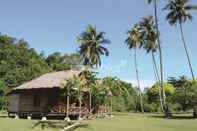
[(140, 25), (135, 24), (134, 27), (127, 32), (127, 39), (125, 43), (129, 47), (129, 49), (134, 49), (134, 63), (135, 63), (135, 71), (136, 71), (136, 78), (137, 78), (137, 88), (139, 90), (140, 96), (140, 105), (141, 105), (141, 112), (144, 112), (143, 107), (143, 98), (142, 92), (140, 88), (140, 81), (139, 81), (139, 72), (138, 72), (138, 64), (137, 64), (137, 48), (140, 48), (142, 45), (142, 34), (140, 32)]

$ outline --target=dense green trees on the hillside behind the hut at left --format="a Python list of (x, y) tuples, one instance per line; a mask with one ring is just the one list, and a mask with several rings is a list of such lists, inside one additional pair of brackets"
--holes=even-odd
[(28, 43), (8, 35), (0, 35), (0, 109), (7, 107), (6, 93), (26, 81), (44, 73), (60, 71), (80, 65), (77, 54), (54, 53), (45, 58)]

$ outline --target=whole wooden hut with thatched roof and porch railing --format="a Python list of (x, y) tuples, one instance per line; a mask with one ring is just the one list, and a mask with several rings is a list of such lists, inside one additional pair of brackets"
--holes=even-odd
[[(77, 103), (70, 103), (69, 112), (66, 112), (66, 97), (61, 95), (65, 79), (79, 73), (78, 70), (47, 73), (14, 88), (9, 94), (9, 114), (20, 117), (79, 114)], [(80, 108), (81, 112), (88, 113), (88, 108)]]

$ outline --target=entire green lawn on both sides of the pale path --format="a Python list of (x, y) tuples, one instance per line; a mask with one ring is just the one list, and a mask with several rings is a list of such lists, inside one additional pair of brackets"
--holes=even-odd
[[(76, 131), (197, 131), (197, 119), (176, 117), (163, 119), (158, 116), (119, 114), (112, 119), (85, 121), (87, 127)], [(36, 120), (14, 120), (0, 117), (0, 131), (60, 131), (64, 122), (39, 123)]]

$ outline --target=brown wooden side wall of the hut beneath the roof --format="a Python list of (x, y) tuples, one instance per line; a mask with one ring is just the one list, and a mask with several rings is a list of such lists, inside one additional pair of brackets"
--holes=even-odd
[[(10, 95), (9, 112), (47, 112), (48, 107), (58, 99), (57, 89), (21, 90)], [(35, 97), (39, 97), (39, 106), (35, 106)], [(17, 98), (17, 99), (16, 99)]]

